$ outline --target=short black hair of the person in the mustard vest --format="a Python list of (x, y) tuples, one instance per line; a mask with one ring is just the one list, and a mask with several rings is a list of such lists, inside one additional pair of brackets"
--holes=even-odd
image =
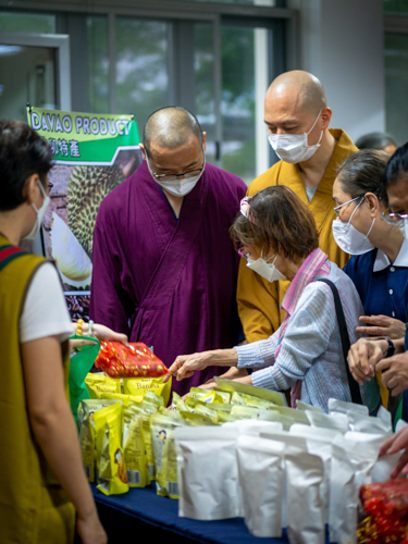
[(38, 174), (46, 185), (52, 168), (48, 143), (21, 121), (0, 120), (0, 211), (14, 210), (25, 201), (24, 185)]

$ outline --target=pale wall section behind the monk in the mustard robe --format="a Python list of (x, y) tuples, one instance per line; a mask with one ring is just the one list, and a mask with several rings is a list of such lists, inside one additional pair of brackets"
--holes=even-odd
[(332, 127), (353, 139), (385, 131), (383, 0), (289, 0), (299, 10), (301, 70), (322, 82)]

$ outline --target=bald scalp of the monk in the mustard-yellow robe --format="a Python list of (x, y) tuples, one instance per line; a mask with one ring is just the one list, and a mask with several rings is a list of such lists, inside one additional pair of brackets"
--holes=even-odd
[(320, 81), (302, 70), (279, 75), (268, 89), (267, 100), (283, 100), (290, 109), (312, 116), (318, 115), (320, 110), (327, 106)]

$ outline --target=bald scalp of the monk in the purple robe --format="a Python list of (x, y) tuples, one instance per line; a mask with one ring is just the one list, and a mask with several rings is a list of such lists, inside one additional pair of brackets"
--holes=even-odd
[(189, 111), (177, 106), (154, 111), (144, 129), (144, 145), (150, 156), (151, 144), (163, 149), (175, 149), (196, 136), (202, 146), (202, 131), (197, 119)]

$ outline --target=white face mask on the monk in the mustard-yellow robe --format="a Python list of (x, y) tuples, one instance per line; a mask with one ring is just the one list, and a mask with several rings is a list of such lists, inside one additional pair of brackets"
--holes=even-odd
[(316, 118), (313, 126), (308, 133), (304, 134), (269, 134), (268, 139), (275, 151), (277, 157), (285, 162), (290, 164), (297, 164), (298, 162), (306, 162), (318, 150), (320, 143), (323, 137), (323, 131), (320, 134), (319, 141), (314, 146), (308, 146), (308, 136), (314, 128), (318, 119), (320, 118), (322, 110), (320, 110), (319, 115)]

